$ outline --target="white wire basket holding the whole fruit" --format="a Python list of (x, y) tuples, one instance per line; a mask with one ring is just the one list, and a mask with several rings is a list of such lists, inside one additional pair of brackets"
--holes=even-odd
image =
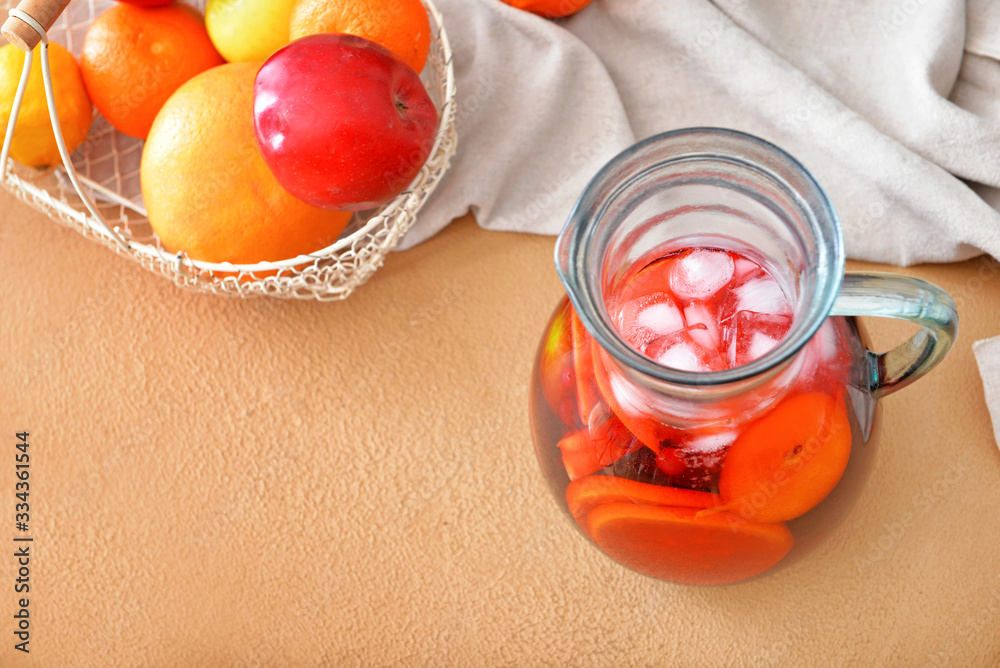
[[(0, 185), (53, 220), (182, 288), (240, 297), (344, 299), (382, 266), (388, 252), (416, 221), (417, 212), (448, 169), (458, 143), (451, 47), (440, 12), (432, 0), (423, 2), (432, 37), (421, 78), (439, 116), (430, 157), (404, 192), (377, 210), (355, 214), (340, 238), (327, 248), (257, 264), (209, 263), (166, 251), (142, 204), (139, 166), (143, 142), (116, 131), (99, 114), (86, 141), (72, 156), (64, 155), (63, 165), (37, 170), (6, 159), (0, 165)], [(17, 1), (4, 3), (11, 9)], [(73, 0), (48, 30), (48, 39), (79, 58), (87, 28), (113, 4), (112, 0)], [(204, 0), (189, 0), (188, 4), (204, 11)], [(11, 14), (24, 18), (17, 10)], [(36, 32), (39, 29), (44, 26)], [(44, 40), (35, 57), (43, 58), (43, 67), (47, 65)], [(50, 82), (45, 83), (51, 90)], [(14, 106), (16, 112), (19, 100)], [(61, 143), (60, 134), (56, 132)]]

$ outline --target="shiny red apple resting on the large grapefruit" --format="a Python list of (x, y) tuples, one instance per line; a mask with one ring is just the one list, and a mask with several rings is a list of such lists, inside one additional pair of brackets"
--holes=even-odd
[(437, 109), (391, 51), (321, 34), (275, 52), (254, 82), (254, 132), (275, 177), (324, 209), (371, 209), (427, 161)]

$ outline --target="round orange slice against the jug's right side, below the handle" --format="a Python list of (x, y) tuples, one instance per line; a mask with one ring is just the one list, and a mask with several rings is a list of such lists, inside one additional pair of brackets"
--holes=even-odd
[(757, 522), (798, 517), (833, 490), (850, 455), (842, 397), (810, 392), (786, 399), (730, 447), (719, 477), (723, 507)]

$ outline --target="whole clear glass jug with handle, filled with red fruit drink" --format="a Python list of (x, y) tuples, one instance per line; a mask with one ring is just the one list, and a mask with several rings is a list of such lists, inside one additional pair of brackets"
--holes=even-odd
[[(879, 398), (930, 371), (957, 333), (940, 288), (845, 275), (820, 185), (731, 130), (618, 155), (555, 256), (567, 297), (532, 376), (539, 463), (598, 548), (673, 582), (737, 582), (820, 542), (871, 469)], [(861, 315), (921, 329), (878, 354)]]

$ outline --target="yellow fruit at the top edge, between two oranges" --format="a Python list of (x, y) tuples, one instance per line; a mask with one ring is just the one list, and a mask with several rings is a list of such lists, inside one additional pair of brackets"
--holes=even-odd
[(266, 60), (288, 44), (288, 18), (294, 1), (208, 0), (208, 36), (231, 63)]

